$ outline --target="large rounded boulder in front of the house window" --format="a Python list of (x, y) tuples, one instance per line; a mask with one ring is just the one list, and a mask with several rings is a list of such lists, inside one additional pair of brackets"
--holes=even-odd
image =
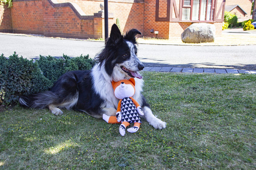
[(181, 34), (181, 40), (187, 43), (214, 42), (215, 26), (208, 23), (194, 23)]

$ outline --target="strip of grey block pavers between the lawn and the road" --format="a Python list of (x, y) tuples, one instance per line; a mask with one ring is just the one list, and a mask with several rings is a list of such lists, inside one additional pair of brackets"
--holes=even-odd
[(182, 72), (182, 73), (256, 74), (256, 70), (203, 69), (203, 68), (182, 68), (182, 67), (145, 67), (143, 71)]

